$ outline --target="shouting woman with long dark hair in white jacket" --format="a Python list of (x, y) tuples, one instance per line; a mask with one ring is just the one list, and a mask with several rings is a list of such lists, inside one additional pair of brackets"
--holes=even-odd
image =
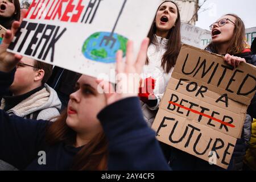
[(180, 13), (176, 3), (162, 2), (148, 32), (150, 46), (143, 68), (144, 86), (140, 88), (142, 110), (148, 125), (152, 125), (159, 102), (171, 78), (181, 48)]

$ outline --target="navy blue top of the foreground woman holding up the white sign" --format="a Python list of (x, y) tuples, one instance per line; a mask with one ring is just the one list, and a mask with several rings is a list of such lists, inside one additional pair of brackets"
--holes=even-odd
[[(0, 72), (0, 97), (11, 85), (15, 70)], [(131, 118), (131, 116), (133, 116)], [(130, 97), (105, 107), (99, 114), (109, 141), (109, 170), (168, 170), (155, 133), (143, 119), (137, 97)], [(18, 169), (68, 170), (80, 150), (64, 142), (49, 147), (44, 142), (51, 122), (32, 121), (0, 110), (0, 159)], [(46, 152), (46, 165), (39, 165), (39, 151)]]

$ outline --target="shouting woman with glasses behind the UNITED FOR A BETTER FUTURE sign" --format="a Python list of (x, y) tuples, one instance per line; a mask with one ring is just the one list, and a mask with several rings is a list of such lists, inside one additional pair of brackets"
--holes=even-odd
[[(205, 48), (206, 50), (223, 55), (224, 61), (233, 67), (237, 67), (241, 62), (255, 64), (256, 57), (250, 52), (250, 49), (246, 48), (244, 42), (245, 26), (237, 15), (227, 14), (222, 16), (211, 24), (210, 30), (212, 30), (212, 42)], [(252, 101), (251, 106), (254, 108), (255, 114), (254, 104), (255, 102)], [(250, 110), (247, 113), (253, 115)], [(228, 170), (242, 170), (243, 168), (243, 157), (245, 156), (247, 142), (250, 139), (251, 117), (249, 114), (246, 115), (242, 137), (237, 140)], [(173, 170), (224, 170), (176, 148), (170, 147), (169, 150), (167, 158)]]

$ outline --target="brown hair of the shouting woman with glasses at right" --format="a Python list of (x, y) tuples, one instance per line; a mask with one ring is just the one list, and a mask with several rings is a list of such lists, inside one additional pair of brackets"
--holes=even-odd
[[(234, 16), (234, 18), (236, 18), (236, 21), (234, 22), (236, 26), (234, 27), (233, 37), (230, 40), (230, 46), (226, 51), (226, 53), (229, 53), (230, 55), (236, 55), (238, 53), (241, 53), (246, 46), (245, 40), (244, 40), (245, 24), (243, 23), (242, 19), (236, 14), (226, 14), (226, 15)], [(214, 45), (213, 42), (211, 42), (205, 49), (210, 49), (214, 53), (218, 53), (217, 45)]]

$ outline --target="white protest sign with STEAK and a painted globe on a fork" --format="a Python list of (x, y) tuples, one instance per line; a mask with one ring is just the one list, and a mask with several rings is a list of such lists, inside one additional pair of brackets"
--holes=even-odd
[(128, 39), (138, 52), (159, 3), (33, 1), (9, 51), (89, 76), (110, 75), (115, 53), (121, 49), (125, 55)]

